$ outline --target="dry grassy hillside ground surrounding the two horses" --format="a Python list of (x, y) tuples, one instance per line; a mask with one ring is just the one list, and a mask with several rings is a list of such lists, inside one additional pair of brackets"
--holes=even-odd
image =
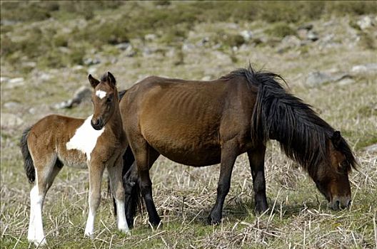
[[(376, 14), (375, 4), (367, 1), (287, 4), (93, 1), (90, 4), (91, 8), (85, 8), (67, 1), (1, 1), (1, 21), (16, 21), (12, 25), (1, 24), (1, 77), (24, 78), (24, 85), (20, 86), (1, 82), (1, 115), (13, 114), (24, 121), (17, 127), (1, 122), (1, 248), (34, 247), (26, 239), (31, 186), (27, 184), (18, 147), (21, 132), (52, 112), (89, 116), (90, 102), (71, 110), (53, 108), (71, 97), (79, 86), (88, 85), (89, 70), (96, 77), (110, 70), (119, 89), (125, 89), (147, 75), (218, 78), (247, 65), (248, 61), (256, 68), (283, 75), (291, 91), (313, 105), (350, 142), (361, 164), (359, 171), (350, 174), (353, 196), (350, 210), (328, 209), (313, 181), (280, 152), (276, 142), (271, 142), (265, 163), (270, 209), (263, 215), (254, 213), (251, 173), (246, 156), (241, 155), (233, 170), (231, 191), (219, 226), (206, 225), (216, 197), (219, 166), (197, 169), (161, 157), (151, 169), (151, 176), (156, 207), (164, 226), (151, 228), (144, 210), (136, 216), (131, 235), (116, 231), (111, 198), (106, 194), (104, 182), (96, 234), (93, 239), (84, 238), (88, 172), (64, 168), (46, 196), (43, 213), (49, 242), (46, 248), (376, 247), (377, 154), (363, 150), (377, 143), (376, 73), (353, 75), (354, 82), (348, 85), (329, 83), (306, 88), (303, 84), (306, 75), (314, 70), (336, 68), (350, 72), (353, 65), (376, 63), (376, 44), (370, 39), (376, 36), (375, 31), (360, 33), (352, 24), (360, 14)], [(35, 16), (31, 15), (33, 11)], [(272, 43), (279, 41), (274, 37), (294, 35), (296, 28), (308, 21), (320, 36), (318, 42), (276, 53)], [(329, 21), (331, 26), (326, 26)], [(280, 34), (284, 27), (289, 30)], [(251, 41), (240, 38), (242, 30), (253, 32)], [(146, 41), (147, 33), (156, 34), (156, 39)], [(335, 41), (342, 41), (341, 45), (319, 48), (328, 33), (333, 33)], [(353, 41), (354, 33), (366, 38), (353, 43), (355, 46), (350, 49), (348, 43)], [(262, 41), (264, 36), (267, 41)], [(204, 37), (208, 37), (208, 42), (197, 46)], [(116, 48), (116, 43), (121, 42), (130, 42), (136, 53), (129, 56), (127, 51)], [(184, 43), (192, 43), (193, 48), (182, 50)], [(221, 46), (216, 48), (217, 44)], [(144, 55), (145, 48), (156, 52)], [(101, 63), (84, 65), (84, 58), (100, 58)], [(35, 62), (36, 66), (29, 62)], [(76, 65), (82, 68), (75, 69)], [(42, 80), (42, 74), (51, 78)], [(6, 107), (4, 104), (8, 102), (18, 105)]]

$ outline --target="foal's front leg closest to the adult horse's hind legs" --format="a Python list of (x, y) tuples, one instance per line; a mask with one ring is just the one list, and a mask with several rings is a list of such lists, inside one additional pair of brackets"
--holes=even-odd
[(127, 225), (126, 215), (124, 213), (124, 186), (122, 181), (122, 169), (122, 155), (116, 159), (114, 166), (111, 165), (107, 167), (111, 184), (111, 192), (115, 198), (116, 209), (119, 211), (116, 216), (118, 229), (124, 233), (129, 233), (129, 226)]

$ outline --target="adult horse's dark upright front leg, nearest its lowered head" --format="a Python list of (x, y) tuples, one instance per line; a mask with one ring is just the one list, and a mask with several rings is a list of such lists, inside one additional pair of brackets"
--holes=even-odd
[(266, 147), (261, 144), (258, 148), (250, 150), (248, 161), (250, 162), (251, 175), (253, 176), (254, 200), (256, 212), (262, 213), (267, 210), (266, 179), (264, 178), (264, 154)]

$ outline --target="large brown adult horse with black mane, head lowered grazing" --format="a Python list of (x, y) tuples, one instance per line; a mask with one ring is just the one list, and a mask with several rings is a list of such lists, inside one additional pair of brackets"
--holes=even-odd
[(137, 165), (137, 171), (129, 166), (124, 176), (129, 223), (139, 187), (149, 221), (160, 222), (149, 177), (160, 154), (190, 166), (221, 163), (216, 203), (208, 217), (216, 224), (234, 161), (247, 152), (256, 211), (266, 211), (264, 155), (270, 139), (280, 142), (283, 152), (308, 171), (331, 208), (346, 208), (351, 202), (348, 172), (356, 167), (350, 147), (340, 132), (286, 92), (277, 79), (283, 80), (249, 66), (212, 81), (149, 77), (127, 90), (120, 108)]

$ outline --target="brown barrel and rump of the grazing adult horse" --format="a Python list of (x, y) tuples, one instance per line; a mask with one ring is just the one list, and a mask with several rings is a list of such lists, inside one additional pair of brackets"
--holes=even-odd
[[(241, 117), (236, 113), (242, 108), (240, 92), (247, 90), (245, 86), (228, 79), (146, 78), (121, 102), (125, 128), (137, 130), (154, 149), (174, 161), (193, 166), (216, 164), (223, 139), (249, 130), (250, 117), (245, 118), (242, 110)], [(232, 127), (234, 119), (241, 128)]]

